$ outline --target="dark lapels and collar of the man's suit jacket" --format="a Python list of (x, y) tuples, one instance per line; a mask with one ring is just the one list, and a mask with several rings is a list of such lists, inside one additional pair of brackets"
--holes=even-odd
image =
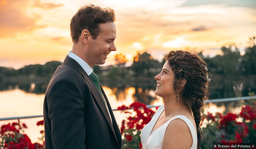
[[(83, 75), (83, 78), (84, 80), (86, 81), (88, 87), (90, 88), (91, 92), (92, 92), (92, 95), (95, 97), (95, 100), (97, 101), (100, 109), (102, 110), (106, 120), (108, 121), (108, 124), (110, 126), (110, 128), (112, 129), (114, 135), (115, 135), (115, 138), (117, 140), (117, 137), (116, 137), (116, 134), (115, 134), (115, 131), (114, 131), (114, 128), (113, 128), (113, 125), (112, 125), (112, 122), (111, 122), (111, 119), (109, 117), (109, 114), (108, 114), (108, 110), (107, 110), (107, 107), (99, 93), (99, 91), (97, 90), (95, 84), (92, 82), (92, 79), (87, 75), (87, 73), (84, 71), (84, 69), (77, 63), (77, 61), (75, 61), (74, 59), (70, 58), (69, 56), (66, 56), (65, 60), (64, 60), (64, 63), (67, 64), (67, 65), (70, 65), (72, 67), (74, 67), (81, 75)], [(108, 107), (111, 107), (109, 105), (109, 102), (106, 98), (106, 95), (105, 95), (105, 92), (103, 91), (103, 89), (101, 88), (102, 90), (102, 93), (106, 99), (106, 102), (107, 102), (107, 105)], [(109, 112), (112, 112), (112, 109), (109, 109)], [(113, 112), (112, 112), (113, 113)], [(118, 141), (117, 141), (118, 143)], [(118, 143), (119, 144), (119, 143)]]

